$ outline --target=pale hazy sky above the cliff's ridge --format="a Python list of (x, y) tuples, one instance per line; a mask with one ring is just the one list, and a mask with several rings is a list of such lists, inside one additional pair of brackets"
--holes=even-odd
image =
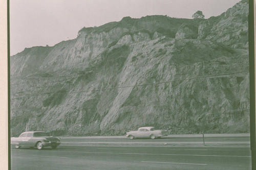
[(125, 16), (167, 15), (192, 18), (218, 16), (240, 0), (12, 0), (10, 53), (25, 47), (53, 46), (74, 39), (83, 27), (98, 27)]

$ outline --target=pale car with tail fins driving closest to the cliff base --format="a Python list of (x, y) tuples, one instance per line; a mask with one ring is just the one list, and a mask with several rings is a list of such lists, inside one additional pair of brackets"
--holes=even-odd
[(126, 133), (126, 137), (130, 139), (134, 138), (159, 138), (162, 136), (167, 136), (168, 132), (166, 130), (156, 130), (155, 127), (141, 127), (137, 131), (130, 131)]

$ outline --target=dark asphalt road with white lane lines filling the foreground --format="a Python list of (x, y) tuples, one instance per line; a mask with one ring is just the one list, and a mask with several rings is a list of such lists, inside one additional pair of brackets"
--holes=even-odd
[[(245, 137), (246, 141), (247, 137)], [(197, 139), (190, 138), (192, 141)], [(224, 140), (225, 138), (223, 138)], [(139, 145), (77, 145), (67, 143), (52, 150), (11, 149), (11, 169), (250, 169), (247, 144), (212, 147), (210, 145), (148, 145), (152, 139), (136, 139)], [(90, 139), (92, 140), (92, 139)], [(103, 139), (94, 139), (93, 142)], [(110, 141), (131, 141), (127, 138)], [(167, 140), (167, 139), (159, 139)], [(180, 139), (181, 140), (181, 139)], [(185, 140), (185, 139), (183, 139)], [(217, 140), (213, 139), (212, 140)], [(236, 138), (235, 141), (244, 139)], [(80, 139), (73, 139), (79, 143)], [(178, 141), (178, 139), (177, 139)], [(219, 141), (219, 140), (218, 140)], [(226, 141), (231, 141), (227, 137)], [(81, 141), (83, 142), (83, 141)], [(153, 140), (157, 142), (157, 140)]]

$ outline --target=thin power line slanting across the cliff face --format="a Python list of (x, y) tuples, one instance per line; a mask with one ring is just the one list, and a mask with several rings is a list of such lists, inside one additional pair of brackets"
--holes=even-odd
[[(176, 82), (176, 81), (193, 80), (193, 79), (201, 79), (201, 78), (211, 78), (211, 77), (213, 78), (213, 77), (219, 77), (219, 76), (228, 76), (228, 75), (240, 74), (240, 73), (243, 73), (243, 72), (248, 72), (248, 71), (229, 72), (227, 74), (219, 74), (219, 75), (211, 75), (211, 76), (201, 76), (201, 77), (186, 78), (186, 79), (179, 79), (179, 80), (171, 80), (171, 81), (165, 81), (165, 82), (138, 84), (138, 85), (132, 85), (132, 86), (100, 88), (100, 89), (94, 89), (94, 90), (82, 90), (82, 91), (74, 91), (74, 92), (60, 92), (60, 93), (55, 93), (54, 95), (66, 94), (66, 93), (80, 93), (80, 92), (88, 92), (88, 91), (111, 90), (111, 89), (117, 89), (117, 88), (139, 87), (139, 86), (147, 86), (147, 85), (156, 85), (156, 84), (171, 83), (171, 82)], [(41, 93), (41, 94), (36, 94), (36, 95), (24, 95), (24, 96), (17, 96), (17, 97), (11, 98), (11, 99), (18, 99), (18, 98), (24, 98), (24, 97), (29, 97), (29, 96), (49, 95), (49, 94), (51, 94), (51, 93)]]

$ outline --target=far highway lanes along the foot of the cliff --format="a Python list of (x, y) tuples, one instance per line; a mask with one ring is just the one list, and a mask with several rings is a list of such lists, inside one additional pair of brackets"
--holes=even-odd
[[(205, 135), (205, 145), (208, 146), (247, 146), (250, 145), (249, 134), (218, 134)], [(202, 135), (169, 135), (159, 139), (129, 139), (125, 136), (85, 136), (85, 137), (62, 137), (62, 144), (72, 145), (203, 145)]]

